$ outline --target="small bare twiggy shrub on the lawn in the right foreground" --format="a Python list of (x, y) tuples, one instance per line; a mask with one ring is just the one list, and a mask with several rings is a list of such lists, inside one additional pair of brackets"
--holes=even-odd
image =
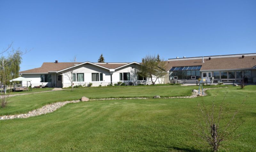
[[(210, 108), (207, 108), (204, 104), (204, 100), (202, 99), (202, 104), (198, 102), (198, 118), (196, 119), (197, 126), (195, 127), (194, 132), (198, 137), (206, 141), (212, 151), (216, 152), (219, 149), (220, 143), (222, 141), (230, 140), (234, 136), (234, 132), (238, 128), (239, 125), (234, 122), (234, 118), (239, 111), (239, 109), (244, 104), (246, 98), (242, 101), (240, 107), (234, 112), (233, 116), (230, 118), (228, 123), (221, 122), (223, 116), (228, 112), (223, 112), (224, 108), (224, 100), (226, 98), (228, 92), (224, 95), (220, 107), (219, 112), (215, 112), (216, 104), (215, 104), (215, 97), (218, 92), (213, 97), (212, 105)], [(220, 123), (221, 122), (221, 123)], [(220, 125), (221, 124), (221, 125)]]

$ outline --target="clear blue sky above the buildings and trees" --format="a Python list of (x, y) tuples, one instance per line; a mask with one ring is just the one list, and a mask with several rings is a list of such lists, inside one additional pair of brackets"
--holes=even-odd
[(141, 61), (256, 52), (255, 0), (0, 1), (0, 49), (43, 62)]

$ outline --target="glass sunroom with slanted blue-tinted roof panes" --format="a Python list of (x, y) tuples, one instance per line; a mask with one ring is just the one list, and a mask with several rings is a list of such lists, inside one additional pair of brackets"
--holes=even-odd
[(197, 80), (200, 77), (202, 66), (172, 67), (169, 71), (169, 80)]

